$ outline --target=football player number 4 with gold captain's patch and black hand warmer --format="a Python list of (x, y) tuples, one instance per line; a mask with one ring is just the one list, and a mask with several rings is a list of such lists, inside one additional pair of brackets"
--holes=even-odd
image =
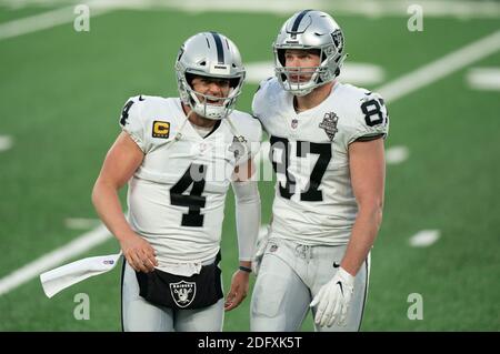
[[(244, 80), (240, 53), (220, 33), (198, 33), (181, 47), (176, 72), (180, 98), (128, 100), (92, 193), (127, 260), (124, 331), (221, 331), (224, 310), (249, 286), (260, 225), (252, 158), (262, 131), (233, 110)], [(126, 219), (118, 191), (127, 182)], [(224, 300), (218, 263), (230, 184), (240, 266)]]

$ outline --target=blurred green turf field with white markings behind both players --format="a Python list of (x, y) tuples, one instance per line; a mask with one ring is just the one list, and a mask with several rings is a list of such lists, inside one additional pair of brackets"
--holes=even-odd
[[(500, 330), (498, 1), (103, 0), (88, 2), (90, 31), (79, 32), (80, 3), (0, 0), (0, 331), (120, 330), (118, 269), (51, 300), (38, 274), (118, 251), (90, 192), (124, 101), (177, 95), (178, 48), (216, 30), (249, 69), (238, 104), (249, 111), (278, 29), (304, 8), (337, 19), (350, 53), (342, 80), (381, 92), (391, 118), (362, 331)], [(423, 10), (423, 31), (407, 27), (410, 4)], [(260, 191), (266, 224), (273, 183)], [(238, 264), (233, 220), (230, 195), (226, 289)], [(88, 321), (73, 316), (79, 293)], [(408, 317), (410, 294), (422, 296), (422, 320)], [(249, 330), (249, 304), (227, 313), (224, 331)]]

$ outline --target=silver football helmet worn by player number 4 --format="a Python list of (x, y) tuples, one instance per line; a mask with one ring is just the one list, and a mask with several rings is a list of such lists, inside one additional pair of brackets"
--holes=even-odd
[[(182, 102), (201, 117), (220, 120), (234, 109), (246, 72), (240, 52), (229, 38), (217, 32), (202, 32), (189, 38), (180, 48), (176, 73)], [(196, 92), (191, 85), (194, 75), (228, 79), (228, 97), (218, 98)]]

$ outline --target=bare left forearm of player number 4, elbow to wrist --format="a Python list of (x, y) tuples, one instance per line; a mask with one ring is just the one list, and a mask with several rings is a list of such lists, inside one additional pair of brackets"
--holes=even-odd
[(121, 242), (133, 233), (123, 215), (118, 191), (114, 186), (98, 180), (92, 191), (92, 203), (99, 218), (118, 241)]

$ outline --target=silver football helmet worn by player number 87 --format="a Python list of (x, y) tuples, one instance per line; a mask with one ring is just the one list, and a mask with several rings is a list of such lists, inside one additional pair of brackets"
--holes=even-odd
[[(340, 73), (346, 55), (343, 34), (339, 24), (328, 13), (303, 10), (289, 18), (272, 44), (274, 50), (274, 72), (284, 90), (294, 95), (306, 95), (313, 89), (332, 81)], [(317, 49), (320, 64), (311, 68), (286, 67), (287, 49)], [(311, 74), (307, 82), (291, 80), (300, 74)]]

